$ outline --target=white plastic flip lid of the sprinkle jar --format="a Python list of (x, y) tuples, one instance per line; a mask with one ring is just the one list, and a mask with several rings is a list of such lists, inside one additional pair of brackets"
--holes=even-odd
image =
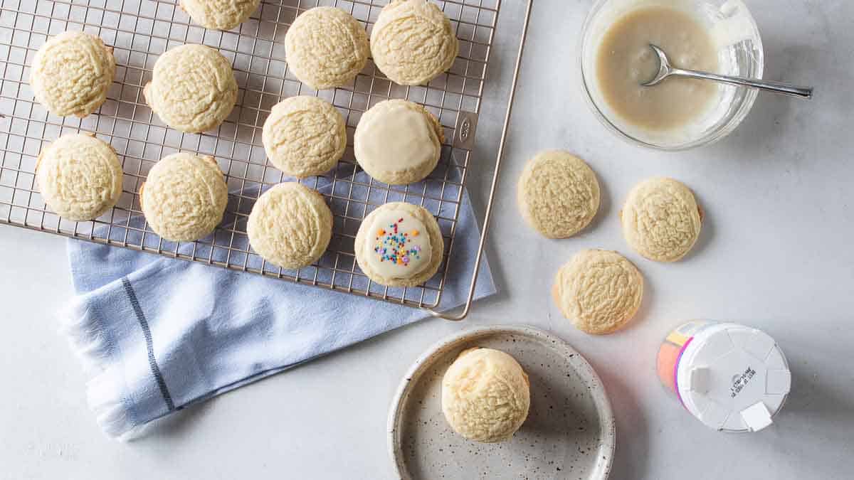
[(774, 339), (743, 325), (699, 331), (676, 368), (682, 404), (716, 430), (762, 430), (783, 406), (791, 385), (786, 357)]

